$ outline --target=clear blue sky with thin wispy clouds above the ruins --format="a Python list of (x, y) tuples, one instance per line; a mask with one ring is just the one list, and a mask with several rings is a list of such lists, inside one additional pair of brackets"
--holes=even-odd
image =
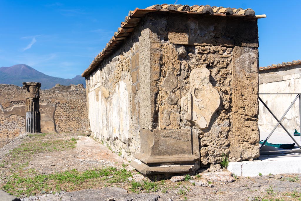
[[(88, 68), (129, 10), (173, 1), (0, 0), (0, 67), (27, 64), (73, 78)], [(252, 8), (258, 20), (259, 66), (301, 59), (301, 1), (183, 1), (176, 4)]]

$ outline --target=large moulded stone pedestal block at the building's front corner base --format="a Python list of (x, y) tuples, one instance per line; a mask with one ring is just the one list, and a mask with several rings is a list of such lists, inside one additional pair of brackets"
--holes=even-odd
[(131, 165), (142, 174), (183, 173), (200, 167), (197, 129), (140, 130)]

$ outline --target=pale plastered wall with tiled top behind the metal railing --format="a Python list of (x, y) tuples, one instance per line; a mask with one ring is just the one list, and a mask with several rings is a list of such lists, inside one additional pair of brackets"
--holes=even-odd
[[(259, 68), (259, 93), (301, 93), (301, 61), (283, 62)], [(271, 111), (280, 118), (289, 107), (296, 94), (292, 95), (259, 95)], [(281, 121), (289, 132), (299, 131), (298, 100)], [(259, 104), (258, 126), (261, 131), (271, 131), (277, 124), (275, 118), (263, 104)], [(284, 132), (279, 125), (276, 132)]]

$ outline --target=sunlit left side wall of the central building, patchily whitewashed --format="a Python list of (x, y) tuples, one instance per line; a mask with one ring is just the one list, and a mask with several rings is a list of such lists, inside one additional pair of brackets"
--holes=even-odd
[(139, 48), (147, 47), (138, 43), (138, 32), (86, 77), (92, 134), (126, 158), (139, 149)]

